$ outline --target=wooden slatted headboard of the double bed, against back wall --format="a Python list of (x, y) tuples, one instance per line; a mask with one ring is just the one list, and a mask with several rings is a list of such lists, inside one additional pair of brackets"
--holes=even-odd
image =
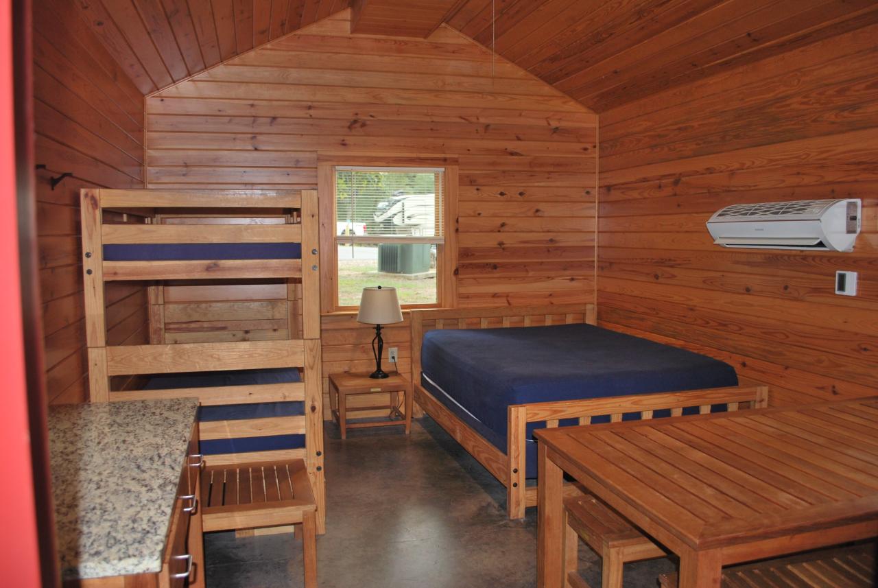
[(488, 329), (507, 326), (594, 325), (595, 307), (585, 305), (441, 308), (412, 311), (412, 383), (421, 382), (421, 341), (433, 329)]

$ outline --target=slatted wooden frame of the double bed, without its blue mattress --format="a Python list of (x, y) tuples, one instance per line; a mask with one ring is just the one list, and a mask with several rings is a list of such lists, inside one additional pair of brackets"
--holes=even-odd
[[(637, 412), (641, 418), (651, 419), (652, 412), (657, 410), (670, 409), (672, 415), (677, 416), (682, 413), (683, 408), (692, 406), (698, 406), (703, 413), (709, 412), (710, 406), (716, 404), (729, 405), (731, 411), (740, 408), (764, 408), (768, 405), (768, 387), (764, 385), (512, 405), (507, 413), (507, 452), (503, 453), (421, 386), (421, 342), (424, 333), (448, 328), (479, 329), (574, 323), (594, 325), (594, 305), (415, 310), (412, 311), (411, 321), (414, 400), (507, 487), (507, 510), (510, 519), (521, 519), (526, 507), (536, 506), (536, 485), (527, 487), (525, 484), (528, 423), (545, 421), (547, 427), (558, 427), (559, 419), (579, 419), (580, 425), (588, 425), (592, 417), (607, 414), (616, 422), (622, 420), (623, 414), (628, 412)], [(577, 491), (570, 487), (571, 493)]]

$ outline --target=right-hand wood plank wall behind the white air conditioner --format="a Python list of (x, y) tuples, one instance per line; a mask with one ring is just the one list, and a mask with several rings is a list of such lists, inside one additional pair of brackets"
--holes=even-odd
[[(702, 350), (774, 404), (878, 389), (878, 26), (601, 113), (601, 324)], [(853, 254), (722, 249), (734, 203), (860, 197)], [(833, 293), (837, 269), (860, 295)]]

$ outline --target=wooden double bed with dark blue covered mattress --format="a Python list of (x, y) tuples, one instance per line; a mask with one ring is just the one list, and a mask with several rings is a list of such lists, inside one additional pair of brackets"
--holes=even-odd
[(727, 363), (594, 326), (594, 306), (412, 312), (415, 400), (500, 482), (511, 518), (536, 505), (542, 427), (766, 405)]

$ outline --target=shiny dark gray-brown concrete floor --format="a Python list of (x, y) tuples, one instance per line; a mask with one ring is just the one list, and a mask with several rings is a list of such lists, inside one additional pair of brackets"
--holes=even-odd
[[(317, 540), (320, 588), (530, 588), (536, 510), (508, 520), (506, 489), (425, 418), (357, 429), (327, 423), (327, 533)], [(291, 534), (205, 537), (209, 588), (302, 586)], [(625, 567), (625, 587), (655, 588), (668, 560)], [(580, 544), (579, 568), (600, 586), (601, 560)]]

